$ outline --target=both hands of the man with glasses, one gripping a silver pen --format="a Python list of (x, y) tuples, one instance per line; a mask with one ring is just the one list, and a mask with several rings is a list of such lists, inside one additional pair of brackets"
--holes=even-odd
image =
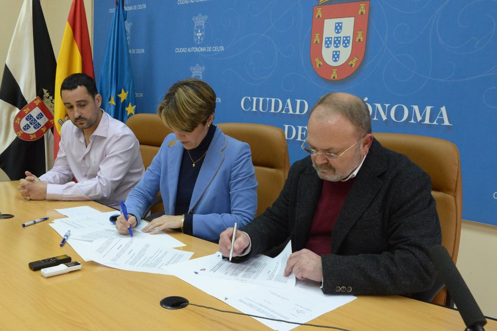
[[(233, 228), (223, 231), (219, 237), (219, 251), (223, 256), (230, 255), (231, 237)], [(242, 254), (250, 244), (248, 234), (243, 231), (237, 231), (237, 238), (233, 245), (233, 256)], [(298, 279), (311, 279), (317, 282), (323, 281), (323, 267), (321, 256), (315, 252), (304, 248), (292, 253), (286, 262), (284, 271), (285, 277), (293, 272)]]

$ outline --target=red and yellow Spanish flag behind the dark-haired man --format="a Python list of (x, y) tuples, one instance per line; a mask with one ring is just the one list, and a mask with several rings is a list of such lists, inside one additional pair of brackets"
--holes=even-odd
[(61, 99), (61, 84), (66, 77), (76, 73), (84, 73), (95, 78), (83, 0), (73, 0), (57, 61), (54, 110), (57, 130), (54, 130), (54, 159), (59, 152), (62, 124), (69, 119)]

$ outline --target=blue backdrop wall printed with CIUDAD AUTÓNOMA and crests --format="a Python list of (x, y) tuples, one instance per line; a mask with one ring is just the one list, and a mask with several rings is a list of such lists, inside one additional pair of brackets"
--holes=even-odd
[[(138, 113), (156, 112), (172, 83), (200, 78), (217, 93), (215, 122), (280, 127), (293, 163), (305, 156), (300, 145), (316, 100), (350, 92), (370, 106), (374, 132), (454, 142), (463, 218), (497, 225), (495, 1), (124, 2)], [(96, 77), (113, 6), (94, 1)]]

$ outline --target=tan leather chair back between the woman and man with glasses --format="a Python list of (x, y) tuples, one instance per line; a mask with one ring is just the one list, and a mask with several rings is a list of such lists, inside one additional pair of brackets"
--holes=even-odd
[(219, 123), (224, 134), (250, 145), (257, 179), (257, 213), (278, 197), (290, 169), (286, 137), (280, 128), (253, 123)]

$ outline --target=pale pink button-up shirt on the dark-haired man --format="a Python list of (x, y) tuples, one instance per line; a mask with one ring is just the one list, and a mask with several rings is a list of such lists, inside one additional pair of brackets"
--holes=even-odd
[(89, 141), (85, 146), (83, 131), (64, 123), (54, 167), (40, 177), (48, 183), (47, 200), (95, 200), (120, 209), (119, 201), (143, 177), (140, 144), (124, 123), (105, 112)]

